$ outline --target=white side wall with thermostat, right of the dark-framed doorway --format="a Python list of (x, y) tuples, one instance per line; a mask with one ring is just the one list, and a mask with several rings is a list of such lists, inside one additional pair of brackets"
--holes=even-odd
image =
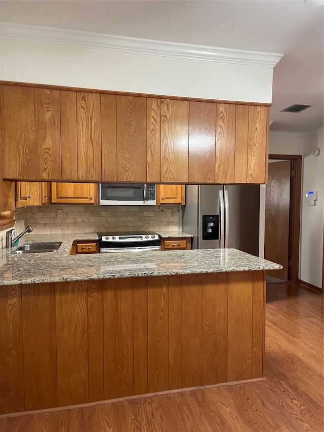
[[(321, 287), (323, 265), (323, 226), (324, 226), (324, 135), (323, 130), (304, 134), (302, 217), (300, 248), (300, 279)], [(314, 156), (314, 148), (320, 155)], [(315, 206), (308, 206), (305, 193), (318, 190)]]

